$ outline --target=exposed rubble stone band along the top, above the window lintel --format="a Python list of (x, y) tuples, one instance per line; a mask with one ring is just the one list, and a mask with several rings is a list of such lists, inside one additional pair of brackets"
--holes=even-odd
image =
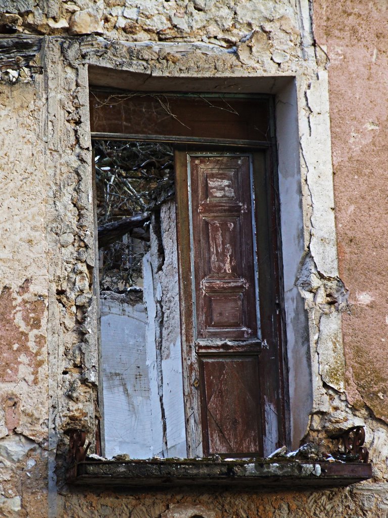
[(223, 48), (241, 42), (242, 61), (249, 61), (251, 54), (258, 59), (269, 51), (277, 65), (294, 55), (300, 39), (295, 23), (299, 13), (289, 1), (258, 5), (253, 0), (243, 4), (220, 0), (147, 0), (140, 4), (50, 0), (37, 7), (27, 0), (14, 0), (2, 7), (6, 13), (20, 15), (18, 27), (26, 33), (103, 33), (131, 41), (201, 40)]

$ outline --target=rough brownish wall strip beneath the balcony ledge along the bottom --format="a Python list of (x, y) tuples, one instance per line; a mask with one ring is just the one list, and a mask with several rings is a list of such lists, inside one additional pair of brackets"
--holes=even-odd
[[(386, 484), (357, 486), (352, 489), (334, 491), (260, 494), (258, 492), (197, 491), (185, 488), (179, 493), (166, 495), (163, 492), (137, 493), (135, 495), (112, 495), (112, 493), (73, 494), (65, 502), (65, 513), (77, 518), (89, 518), (91, 509), (95, 516), (131, 516), (131, 518), (182, 518), (201, 516), (204, 518), (316, 518), (316, 516), (384, 516), (388, 498)], [(189, 511), (192, 514), (189, 514)], [(174, 510), (176, 513), (174, 514)], [(187, 511), (187, 514), (183, 512)], [(164, 513), (164, 514), (163, 514)]]

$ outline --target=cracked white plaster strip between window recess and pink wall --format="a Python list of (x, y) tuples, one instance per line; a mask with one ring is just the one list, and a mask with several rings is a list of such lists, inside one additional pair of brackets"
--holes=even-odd
[[(348, 291), (338, 277), (327, 74), (319, 67), (317, 61), (316, 73), (306, 78), (300, 91), (305, 115), (300, 119), (300, 160), (306, 248), (295, 286), (309, 319), (314, 400), (311, 415), (329, 415), (329, 387), (342, 395), (345, 390), (341, 312), (348, 310)], [(312, 417), (310, 429), (315, 421)]]

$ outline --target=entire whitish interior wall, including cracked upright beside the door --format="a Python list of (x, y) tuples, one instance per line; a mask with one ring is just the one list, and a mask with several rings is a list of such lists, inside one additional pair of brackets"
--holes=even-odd
[[(131, 304), (109, 292), (101, 297), (107, 457), (187, 455), (173, 201), (161, 207), (160, 219), (165, 257), (158, 268), (151, 228), (151, 250), (143, 258), (144, 302)], [(161, 330), (157, 305), (163, 313)]]

